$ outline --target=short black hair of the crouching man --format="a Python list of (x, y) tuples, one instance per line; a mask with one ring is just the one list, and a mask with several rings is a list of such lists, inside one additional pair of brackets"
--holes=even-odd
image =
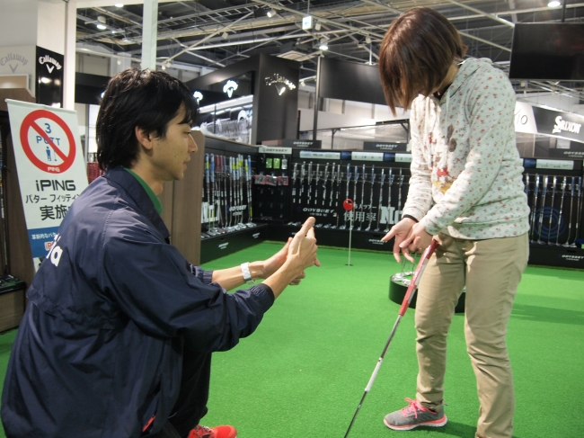
[(194, 124), (197, 101), (186, 85), (167, 73), (128, 68), (111, 77), (95, 125), (100, 168), (130, 167), (139, 150), (135, 128), (164, 138), (168, 122), (181, 105), (185, 109), (182, 123)]

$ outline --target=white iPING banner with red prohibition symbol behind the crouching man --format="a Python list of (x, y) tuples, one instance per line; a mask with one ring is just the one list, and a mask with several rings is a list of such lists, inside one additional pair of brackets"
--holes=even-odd
[(6, 103), (32, 257), (44, 257), (61, 220), (88, 185), (77, 115), (34, 103)]

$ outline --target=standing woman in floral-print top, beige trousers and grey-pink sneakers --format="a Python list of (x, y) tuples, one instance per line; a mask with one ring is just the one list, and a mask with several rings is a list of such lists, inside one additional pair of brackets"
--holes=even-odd
[[(403, 219), (382, 239), (394, 256), (440, 242), (416, 305), (416, 398), (385, 416), (409, 430), (442, 426), (447, 333), (466, 286), (465, 338), (480, 401), (475, 438), (513, 434), (515, 398), (505, 337), (528, 256), (529, 208), (515, 142), (515, 93), (489, 59), (466, 59), (456, 28), (419, 7), (395, 20), (381, 45), (387, 104), (411, 106), (411, 180)], [(419, 95), (420, 94), (420, 95)]]

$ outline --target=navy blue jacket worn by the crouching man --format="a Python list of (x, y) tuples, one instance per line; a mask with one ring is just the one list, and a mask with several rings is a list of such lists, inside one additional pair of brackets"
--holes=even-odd
[(8, 438), (138, 437), (171, 414), (183, 348), (215, 352), (252, 334), (270, 288), (226, 294), (189, 264), (137, 179), (93, 182), (40, 265), (8, 364)]

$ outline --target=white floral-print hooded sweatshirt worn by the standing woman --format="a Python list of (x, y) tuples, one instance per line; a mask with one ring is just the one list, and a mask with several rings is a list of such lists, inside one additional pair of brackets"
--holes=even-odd
[(509, 79), (486, 58), (466, 59), (442, 99), (418, 96), (403, 214), (431, 235), (478, 240), (526, 233), (514, 112)]

